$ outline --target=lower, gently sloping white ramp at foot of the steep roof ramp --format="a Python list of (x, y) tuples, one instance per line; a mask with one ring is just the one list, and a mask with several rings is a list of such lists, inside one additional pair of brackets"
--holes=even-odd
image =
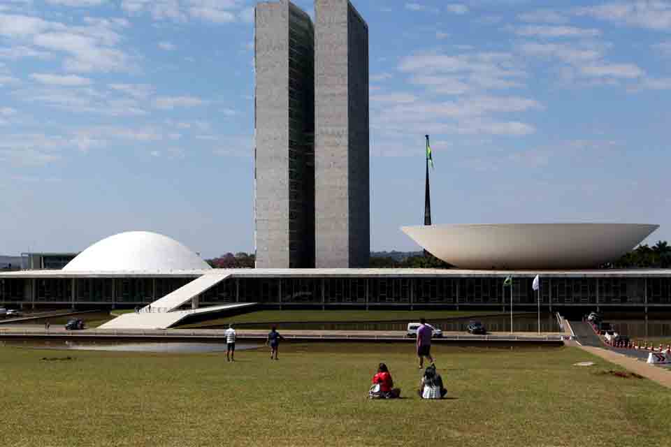
[(255, 306), (255, 302), (201, 307), (201, 309), (175, 310), (173, 312), (131, 312), (117, 316), (112, 321), (101, 325), (99, 329), (168, 329), (187, 316), (212, 314), (232, 309), (244, 309)]

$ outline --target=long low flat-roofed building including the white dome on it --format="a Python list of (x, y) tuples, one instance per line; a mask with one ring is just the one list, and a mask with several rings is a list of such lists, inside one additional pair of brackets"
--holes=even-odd
[[(155, 233), (98, 242), (62, 270), (0, 273), (0, 303), (21, 307), (136, 307), (191, 284), (199, 306), (671, 308), (671, 270), (422, 270), (210, 268), (197, 254)], [(512, 288), (504, 287), (512, 277)], [(201, 288), (194, 281), (202, 281)], [(183, 295), (187, 296), (187, 295)], [(179, 305), (182, 305), (180, 302)]]

